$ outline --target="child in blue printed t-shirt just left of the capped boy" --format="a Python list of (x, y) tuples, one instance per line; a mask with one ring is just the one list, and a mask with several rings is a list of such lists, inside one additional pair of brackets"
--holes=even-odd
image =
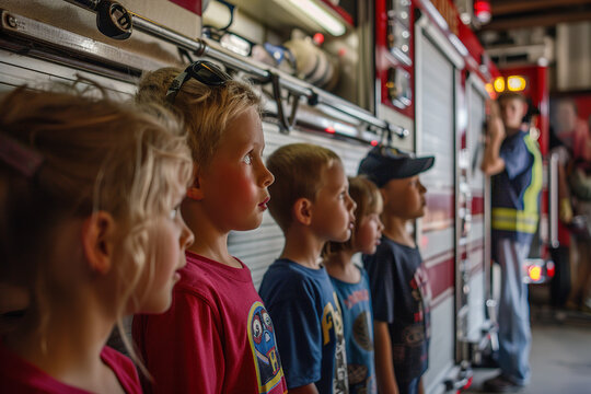
[(338, 297), (347, 349), (349, 393), (376, 394), (373, 360), (373, 317), (368, 274), (352, 262), (356, 253), (373, 254), (382, 237), (382, 196), (368, 178), (349, 178), (349, 194), (357, 205), (355, 231), (345, 243), (328, 242), (323, 263)]

